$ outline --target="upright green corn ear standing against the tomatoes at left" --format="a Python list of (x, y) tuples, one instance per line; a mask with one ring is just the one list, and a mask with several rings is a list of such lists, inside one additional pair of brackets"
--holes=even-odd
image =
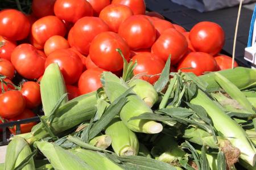
[[(48, 116), (55, 107), (60, 97), (67, 93), (63, 75), (57, 63), (51, 63), (44, 71), (40, 82), (40, 92), (44, 115)], [(67, 103), (68, 96), (62, 101), (61, 105)]]

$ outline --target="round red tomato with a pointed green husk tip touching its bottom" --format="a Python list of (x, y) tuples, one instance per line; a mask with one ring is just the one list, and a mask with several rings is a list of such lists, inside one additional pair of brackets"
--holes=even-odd
[(185, 36), (174, 28), (167, 29), (152, 45), (151, 52), (167, 61), (171, 55), (171, 63), (175, 65), (188, 50)]

